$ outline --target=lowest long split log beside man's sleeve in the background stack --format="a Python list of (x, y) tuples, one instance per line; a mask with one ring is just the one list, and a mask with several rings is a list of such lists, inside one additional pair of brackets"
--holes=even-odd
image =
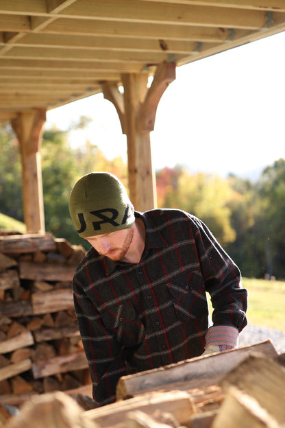
[(83, 368), (88, 368), (88, 362), (84, 351), (45, 359), (43, 361), (36, 361), (32, 364), (34, 379)]

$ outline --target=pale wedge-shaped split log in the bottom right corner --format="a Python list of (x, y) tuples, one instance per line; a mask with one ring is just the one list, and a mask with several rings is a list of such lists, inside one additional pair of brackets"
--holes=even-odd
[[(283, 425), (284, 426), (284, 425)], [(226, 396), (211, 428), (281, 428), (250, 395), (232, 388)]]

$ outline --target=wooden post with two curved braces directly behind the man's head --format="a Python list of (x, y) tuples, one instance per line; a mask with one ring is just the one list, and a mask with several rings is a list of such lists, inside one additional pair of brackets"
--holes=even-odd
[(122, 132), (127, 135), (129, 196), (138, 211), (157, 206), (150, 132), (154, 128), (160, 98), (173, 80), (175, 64), (163, 62), (158, 66), (150, 88), (147, 88), (147, 73), (123, 74), (123, 95), (115, 86), (103, 85), (103, 95), (116, 107)]

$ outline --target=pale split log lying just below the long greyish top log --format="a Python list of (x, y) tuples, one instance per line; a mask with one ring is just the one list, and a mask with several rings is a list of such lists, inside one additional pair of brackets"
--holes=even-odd
[(136, 410), (153, 417), (158, 411), (170, 413), (180, 425), (187, 425), (190, 416), (195, 413), (195, 407), (186, 392), (172, 391), (137, 396), (88, 410), (85, 414), (101, 428), (125, 428), (127, 414)]

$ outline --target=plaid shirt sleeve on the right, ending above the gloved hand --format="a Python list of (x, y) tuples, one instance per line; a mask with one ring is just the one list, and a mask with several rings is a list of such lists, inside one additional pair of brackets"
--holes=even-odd
[(234, 326), (240, 332), (247, 325), (247, 290), (241, 285), (240, 270), (208, 227), (197, 218), (194, 222), (201, 273), (213, 307), (213, 326)]

